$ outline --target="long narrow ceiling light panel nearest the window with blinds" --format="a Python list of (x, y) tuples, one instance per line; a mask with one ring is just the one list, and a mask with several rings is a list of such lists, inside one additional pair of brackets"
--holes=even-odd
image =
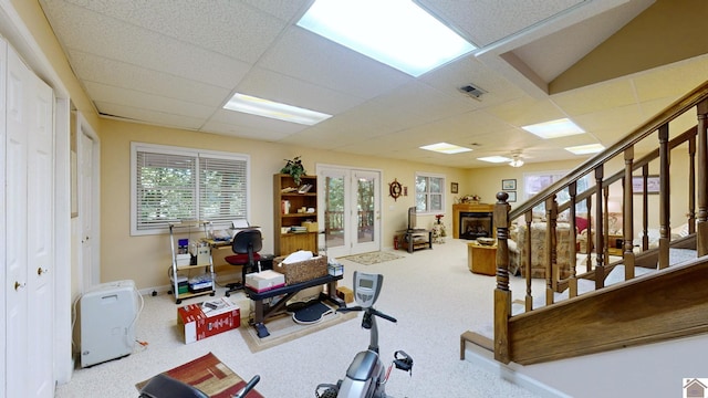
[(233, 94), (233, 97), (223, 105), (223, 108), (279, 121), (299, 123), (308, 126), (315, 125), (332, 117), (332, 115), (320, 112), (280, 104), (269, 100), (239, 93)]

